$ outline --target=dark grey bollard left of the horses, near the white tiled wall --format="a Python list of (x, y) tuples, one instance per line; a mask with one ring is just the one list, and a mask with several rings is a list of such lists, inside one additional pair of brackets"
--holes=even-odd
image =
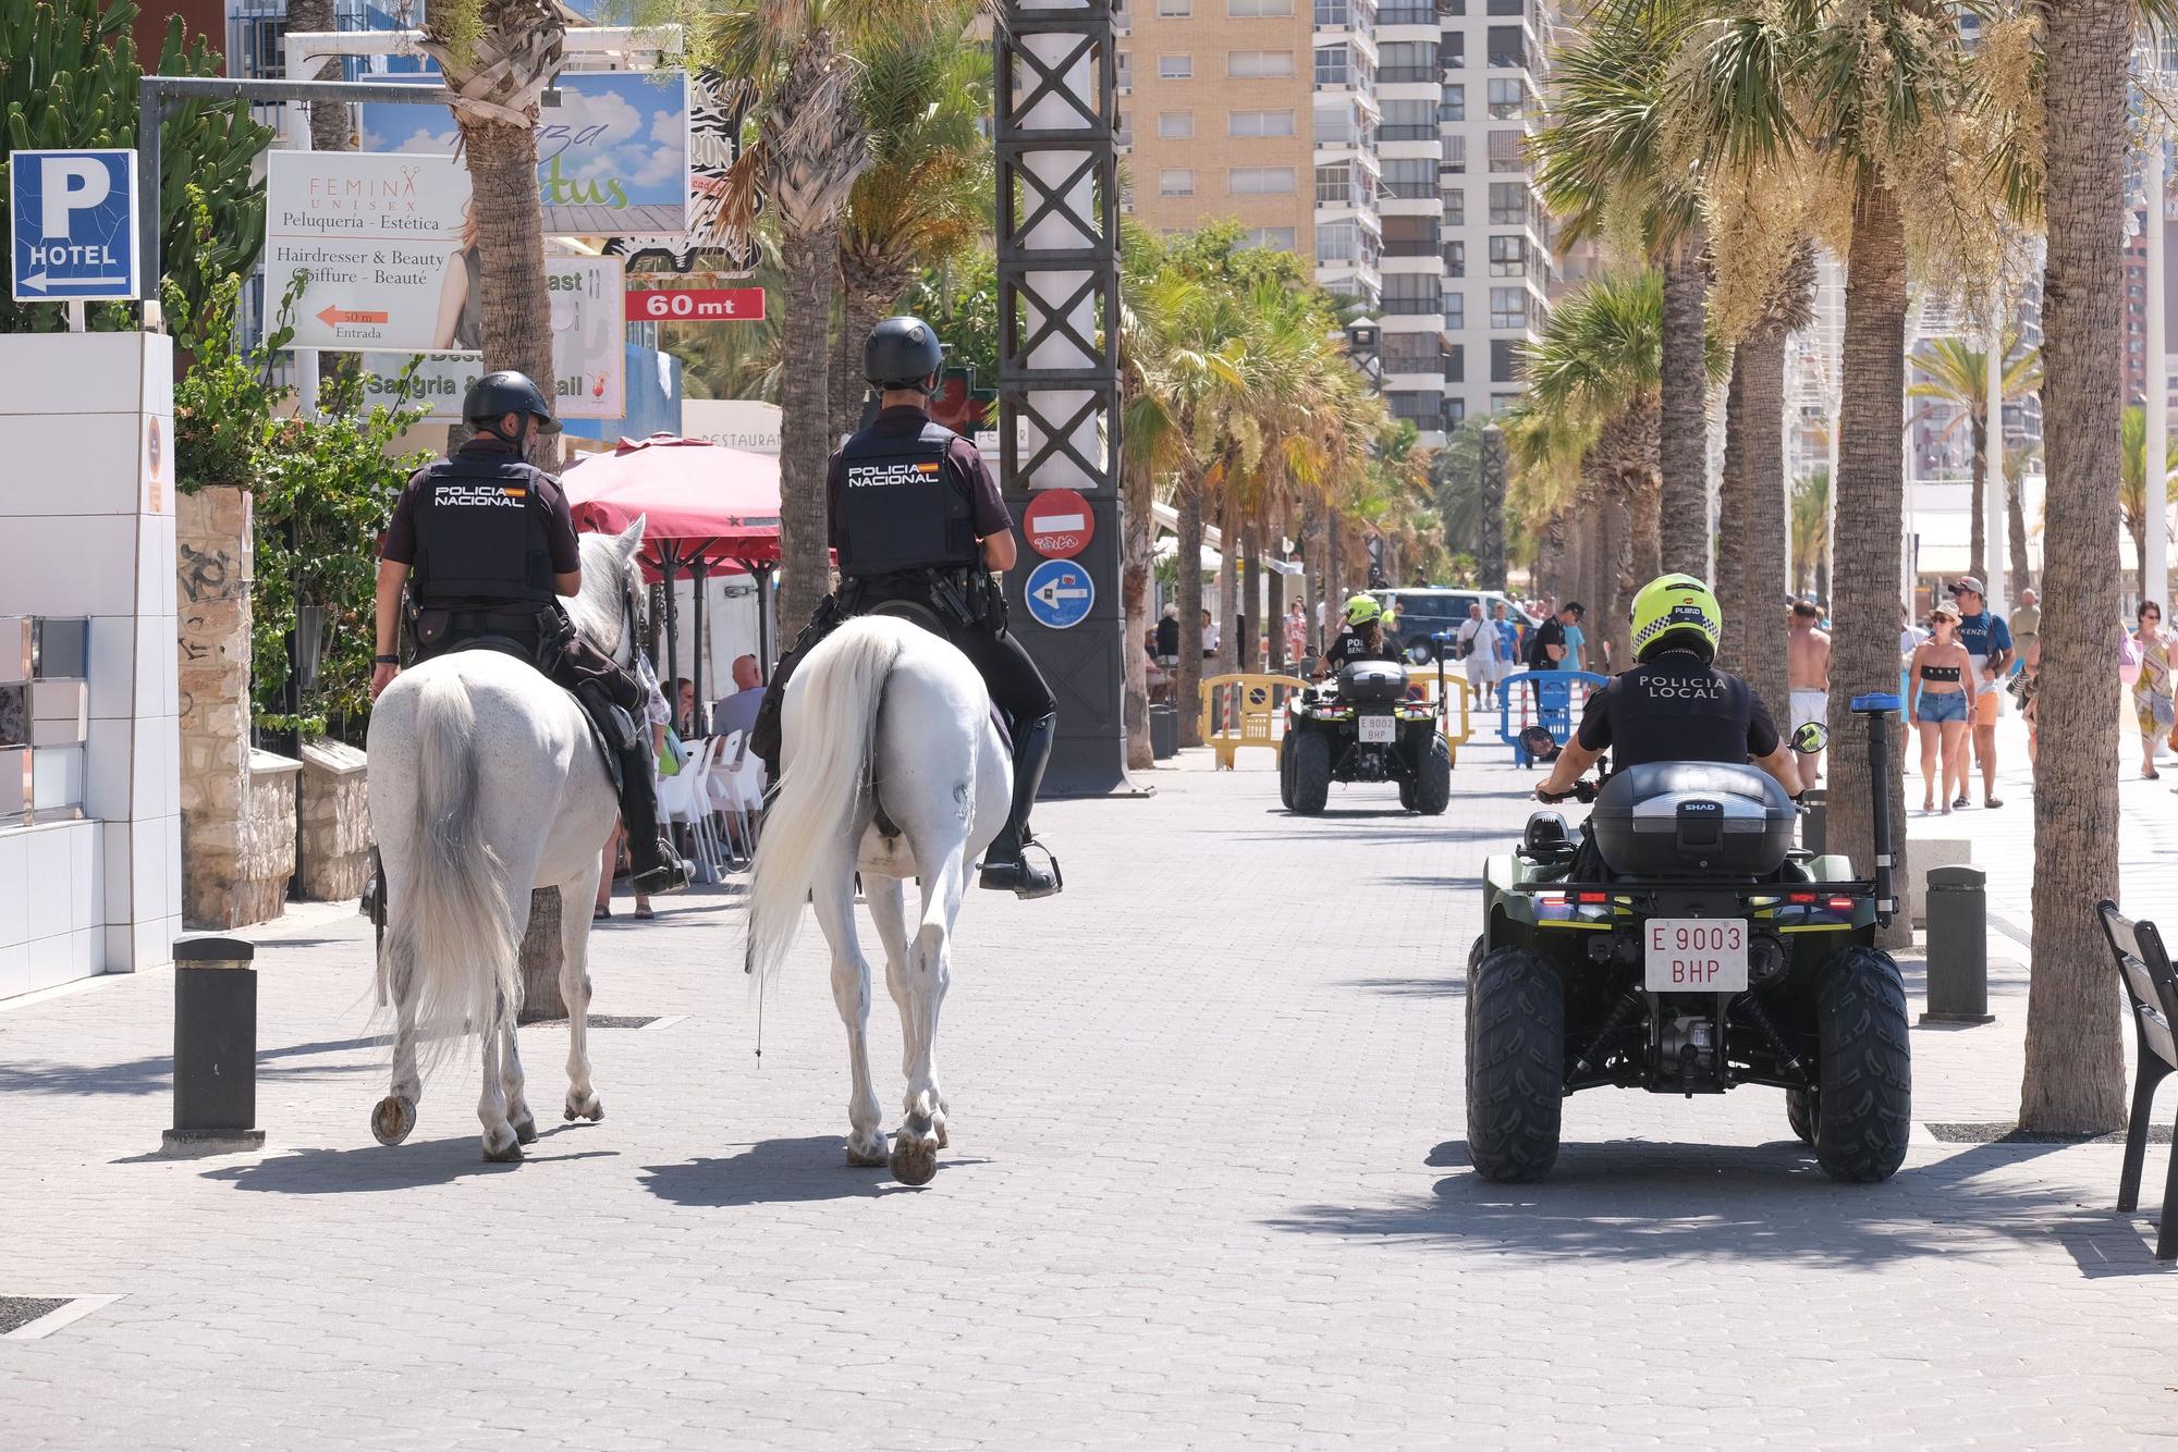
[(174, 945), (174, 1128), (161, 1154), (264, 1149), (255, 953), (240, 938)]

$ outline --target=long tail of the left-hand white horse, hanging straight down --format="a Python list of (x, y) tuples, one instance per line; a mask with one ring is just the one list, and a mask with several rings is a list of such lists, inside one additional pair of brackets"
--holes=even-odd
[(431, 675), (416, 694), (416, 873), (401, 884), (407, 908), (392, 897), (388, 938), (392, 964), (414, 977), (431, 1058), (466, 1034), (497, 1034), (523, 1001), (505, 866), (479, 827), (475, 734), (462, 677)]

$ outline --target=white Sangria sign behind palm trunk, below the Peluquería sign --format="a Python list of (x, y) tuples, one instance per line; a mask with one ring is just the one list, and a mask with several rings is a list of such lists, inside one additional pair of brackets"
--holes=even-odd
[[(560, 418), (627, 416), (627, 322), (621, 318), (625, 285), (619, 257), (547, 257), (551, 292), (551, 381)], [(364, 401), (407, 403), (431, 409), (433, 420), (457, 422), (462, 396), (484, 374), (475, 353), (425, 353), (403, 394), (401, 370), (414, 353), (366, 353)], [(538, 379), (542, 383), (542, 379)]]

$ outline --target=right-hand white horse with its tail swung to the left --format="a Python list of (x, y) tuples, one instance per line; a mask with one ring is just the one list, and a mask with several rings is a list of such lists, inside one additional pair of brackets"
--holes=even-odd
[[(804, 899), (832, 945), (832, 999), (847, 1025), (847, 1162), (884, 1165), (869, 1082), (869, 962), (854, 936), (854, 875), (884, 940), (884, 982), (900, 1006), (904, 1119), (891, 1167), (928, 1184), (945, 1147), (939, 1004), (952, 977), (952, 925), (969, 864), (1006, 825), (1013, 758), (982, 677), (952, 642), (900, 618), (841, 625), (786, 684), (782, 773), (749, 884), (749, 971), (773, 975)], [(878, 829), (878, 803), (900, 829)], [(923, 886), (908, 938), (904, 882)]]

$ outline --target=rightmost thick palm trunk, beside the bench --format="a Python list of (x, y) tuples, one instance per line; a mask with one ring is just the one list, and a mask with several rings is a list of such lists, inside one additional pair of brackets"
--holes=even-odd
[[(2043, 20), (2047, 152), (2043, 198), (2043, 618), (2045, 742), (2034, 766), (2034, 973), (2028, 988), (2026, 1130), (2126, 1123), (2110, 960), (2095, 903), (2117, 897), (2117, 712), (2110, 620), (2117, 594), (2117, 359), (2124, 346), (2126, 59), (2132, 7), (2080, 0)], [(2161, 494), (2150, 490), (2150, 499)]]

